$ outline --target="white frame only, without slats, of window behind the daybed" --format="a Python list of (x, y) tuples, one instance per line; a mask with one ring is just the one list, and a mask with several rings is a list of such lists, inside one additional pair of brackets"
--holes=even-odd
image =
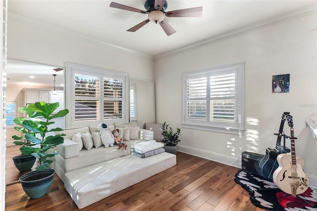
[[(97, 76), (99, 77), (99, 120), (87, 120), (87, 121), (75, 121), (75, 106), (74, 101), (77, 96), (75, 96), (75, 86), (74, 78), (75, 74), (87, 75), (87, 76)], [(122, 80), (122, 119), (104, 119), (104, 78), (119, 79)], [(74, 63), (66, 62), (65, 71), (65, 107), (69, 109), (69, 114), (65, 116), (65, 127), (66, 128), (76, 128), (76, 127), (87, 127), (92, 125), (99, 125), (100, 123), (113, 124), (118, 122), (128, 122), (129, 121), (129, 75), (125, 72), (107, 70), (102, 68), (96, 68), (91, 66), (79, 65)], [(80, 97), (84, 99), (85, 97)], [(94, 97), (92, 97), (94, 98)], [(88, 99), (88, 98), (86, 98)]]

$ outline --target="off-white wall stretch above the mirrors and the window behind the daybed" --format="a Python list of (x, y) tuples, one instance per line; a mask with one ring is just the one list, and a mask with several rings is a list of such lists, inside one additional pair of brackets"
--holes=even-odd
[(154, 61), (74, 36), (53, 32), (9, 18), (7, 58), (65, 67), (66, 62), (129, 73), (154, 80)]

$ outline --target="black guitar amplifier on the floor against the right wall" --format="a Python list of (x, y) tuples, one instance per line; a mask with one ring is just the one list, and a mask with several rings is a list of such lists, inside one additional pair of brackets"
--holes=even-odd
[(242, 170), (263, 176), (261, 169), (259, 168), (259, 163), (263, 157), (264, 155), (254, 152), (243, 152)]

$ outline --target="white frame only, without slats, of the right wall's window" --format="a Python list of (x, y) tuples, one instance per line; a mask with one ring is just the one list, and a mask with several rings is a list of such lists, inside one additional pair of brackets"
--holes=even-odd
[[(211, 121), (210, 120), (210, 103), (211, 103), (211, 94), (210, 94), (210, 77), (216, 75), (226, 75), (228, 73), (235, 73), (235, 112), (234, 117), (235, 121), (233, 123)], [(206, 119), (193, 120), (187, 118), (187, 80), (197, 79), (206, 77), (207, 79), (207, 90), (206, 90)], [(244, 132), (244, 62), (209, 68), (199, 71), (190, 71), (182, 74), (182, 127), (193, 128), (193, 129), (203, 129), (216, 132), (225, 132), (233, 134), (243, 134)]]

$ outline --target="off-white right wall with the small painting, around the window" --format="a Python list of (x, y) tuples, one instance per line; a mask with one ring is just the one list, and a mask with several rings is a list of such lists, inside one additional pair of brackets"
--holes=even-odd
[[(181, 128), (179, 150), (241, 167), (241, 153), (274, 148), (280, 117), (293, 116), (296, 155), (317, 179), (317, 140), (304, 119), (317, 112), (317, 15), (304, 16), (155, 60), (157, 122), (181, 128), (182, 73), (245, 62), (242, 136)], [(271, 93), (272, 75), (290, 74), (289, 93)], [(284, 126), (286, 134), (289, 127)], [(287, 146), (289, 146), (289, 140)]]

